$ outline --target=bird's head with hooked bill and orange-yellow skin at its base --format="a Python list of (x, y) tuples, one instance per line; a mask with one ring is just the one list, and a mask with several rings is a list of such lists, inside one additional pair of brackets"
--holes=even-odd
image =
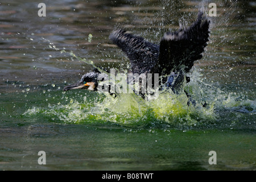
[(74, 85), (66, 86), (63, 90), (68, 91), (71, 89), (87, 89), (96, 91), (98, 81), (104, 81), (106, 78), (105, 73), (101, 73), (98, 69), (94, 68), (92, 72), (86, 73), (82, 76), (81, 80)]

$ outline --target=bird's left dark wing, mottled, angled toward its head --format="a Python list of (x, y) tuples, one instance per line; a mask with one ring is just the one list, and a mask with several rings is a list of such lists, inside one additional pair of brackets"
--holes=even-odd
[(159, 46), (147, 42), (140, 36), (128, 34), (125, 30), (118, 29), (110, 34), (112, 40), (130, 59), (133, 73), (148, 73), (158, 61)]

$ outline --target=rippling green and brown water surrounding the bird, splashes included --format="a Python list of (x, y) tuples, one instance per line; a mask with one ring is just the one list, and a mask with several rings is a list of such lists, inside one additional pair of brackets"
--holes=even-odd
[(114, 27), (158, 43), (208, 1), (45, 3), (39, 17), (35, 2), (1, 2), (1, 170), (255, 170), (255, 3), (216, 1), (185, 87), (195, 106), (168, 92), (145, 101), (63, 88), (93, 69), (85, 61), (127, 69), (108, 39)]

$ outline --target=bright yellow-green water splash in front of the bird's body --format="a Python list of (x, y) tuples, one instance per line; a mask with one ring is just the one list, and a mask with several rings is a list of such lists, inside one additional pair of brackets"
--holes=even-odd
[(203, 107), (200, 100), (195, 105), (187, 103), (185, 93), (176, 95), (171, 90), (161, 91), (157, 100), (143, 100), (134, 93), (118, 94), (116, 98), (106, 93), (84, 96), (82, 101), (71, 98), (68, 104), (32, 107), (24, 115), (44, 115), (64, 123), (111, 122), (126, 126), (159, 122), (191, 126), (215, 118), (213, 104)]

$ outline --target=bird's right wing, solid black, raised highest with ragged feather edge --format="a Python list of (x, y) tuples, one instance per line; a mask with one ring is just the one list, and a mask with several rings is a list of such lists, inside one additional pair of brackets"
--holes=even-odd
[(209, 38), (210, 21), (199, 11), (196, 22), (188, 28), (167, 32), (159, 47), (158, 64), (152, 70), (159, 75), (170, 75), (171, 72), (185, 73), (193, 67), (194, 61), (201, 59)]

